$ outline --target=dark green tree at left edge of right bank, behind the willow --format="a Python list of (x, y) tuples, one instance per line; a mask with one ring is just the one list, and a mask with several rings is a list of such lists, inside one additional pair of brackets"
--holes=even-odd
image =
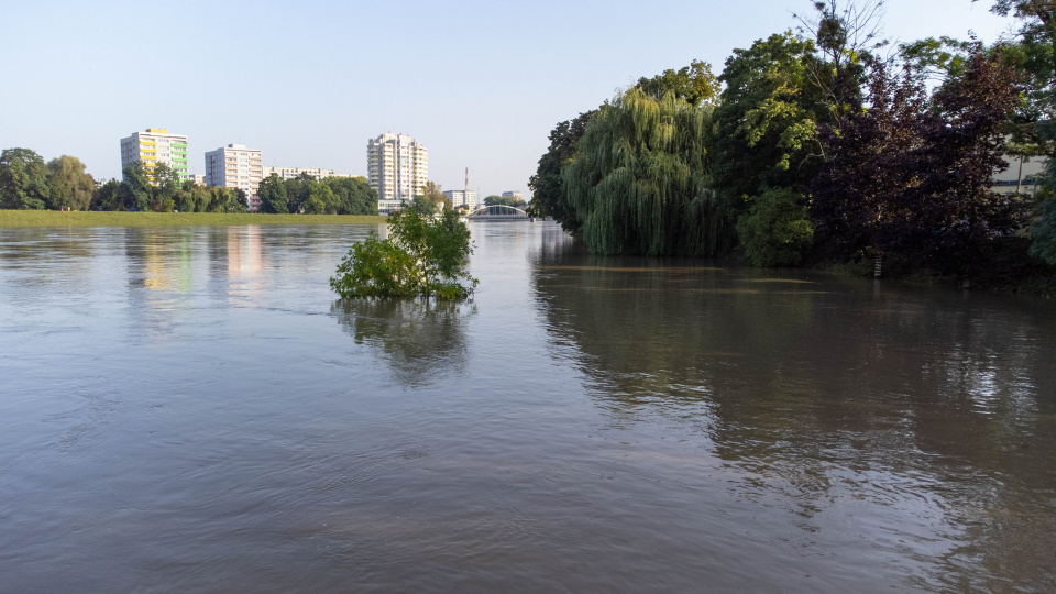
[(529, 209), (538, 217), (553, 217), (568, 231), (576, 231), (583, 221), (575, 218), (564, 195), (561, 167), (575, 156), (578, 144), (586, 131), (586, 122), (596, 110), (580, 113), (579, 117), (558, 123), (550, 131), (550, 147), (539, 158), (536, 174), (528, 180), (531, 188)]

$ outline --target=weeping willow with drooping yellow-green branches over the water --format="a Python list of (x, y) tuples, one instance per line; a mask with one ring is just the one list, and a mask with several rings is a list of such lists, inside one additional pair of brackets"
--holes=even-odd
[(711, 114), (631, 88), (591, 118), (561, 176), (592, 252), (710, 256), (730, 245), (732, 226), (705, 186)]

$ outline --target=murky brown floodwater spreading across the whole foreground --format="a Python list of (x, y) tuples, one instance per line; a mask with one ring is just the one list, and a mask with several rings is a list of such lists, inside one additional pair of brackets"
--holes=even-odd
[(1056, 591), (1056, 304), (373, 229), (0, 229), (0, 592)]

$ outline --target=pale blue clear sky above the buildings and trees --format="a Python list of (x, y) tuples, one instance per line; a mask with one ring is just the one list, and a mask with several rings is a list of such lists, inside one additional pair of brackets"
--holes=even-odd
[[(859, 0), (861, 1), (861, 0)], [(810, 0), (55, 2), (0, 0), (0, 148), (120, 177), (120, 139), (188, 135), (190, 172), (230, 143), (264, 164), (366, 175), (384, 132), (429, 150), (429, 178), (528, 195), (550, 130), (641, 76), (712, 64), (796, 25)], [(892, 41), (992, 43), (981, 0), (888, 0)]]

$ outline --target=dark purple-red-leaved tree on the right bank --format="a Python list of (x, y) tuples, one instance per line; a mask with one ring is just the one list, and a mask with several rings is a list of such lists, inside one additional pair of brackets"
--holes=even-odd
[(912, 252), (960, 266), (1009, 233), (1020, 205), (990, 186), (1007, 166), (1003, 127), (1018, 91), (1013, 73), (978, 46), (931, 100), (912, 77), (873, 64), (865, 105), (838, 132), (822, 131), (832, 158), (811, 186), (818, 241), (840, 257)]

